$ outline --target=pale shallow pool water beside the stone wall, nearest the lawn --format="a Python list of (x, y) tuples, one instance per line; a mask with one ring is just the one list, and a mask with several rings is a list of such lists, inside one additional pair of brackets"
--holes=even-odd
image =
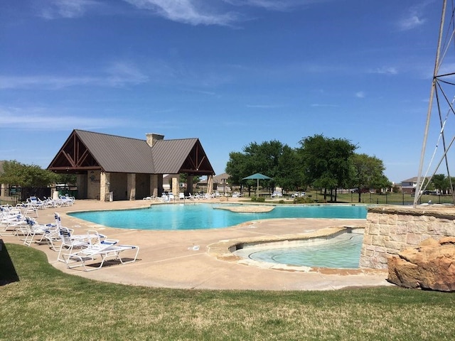
[(245, 247), (237, 256), (267, 263), (289, 266), (311, 266), (333, 269), (358, 269), (363, 234), (343, 233), (331, 239), (306, 239), (299, 246)]

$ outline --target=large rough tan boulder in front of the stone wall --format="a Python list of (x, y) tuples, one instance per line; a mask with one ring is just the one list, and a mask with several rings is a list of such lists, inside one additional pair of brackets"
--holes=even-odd
[(455, 291), (455, 237), (426, 239), (387, 259), (391, 283), (405, 288)]

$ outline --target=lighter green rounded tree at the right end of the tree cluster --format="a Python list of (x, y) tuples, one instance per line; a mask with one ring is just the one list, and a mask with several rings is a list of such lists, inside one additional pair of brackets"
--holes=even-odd
[(383, 174), (384, 163), (375, 156), (354, 153), (350, 161), (353, 166), (353, 187), (358, 188), (358, 202), (363, 188), (381, 189), (390, 186), (390, 181)]

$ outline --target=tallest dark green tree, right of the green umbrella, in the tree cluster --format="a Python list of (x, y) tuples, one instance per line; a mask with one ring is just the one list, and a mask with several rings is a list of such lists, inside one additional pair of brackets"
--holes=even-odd
[(350, 156), (357, 146), (346, 139), (329, 139), (322, 134), (308, 136), (300, 141), (299, 154), (304, 168), (306, 183), (324, 189), (324, 200), (327, 190), (346, 187), (351, 178), (352, 166)]

